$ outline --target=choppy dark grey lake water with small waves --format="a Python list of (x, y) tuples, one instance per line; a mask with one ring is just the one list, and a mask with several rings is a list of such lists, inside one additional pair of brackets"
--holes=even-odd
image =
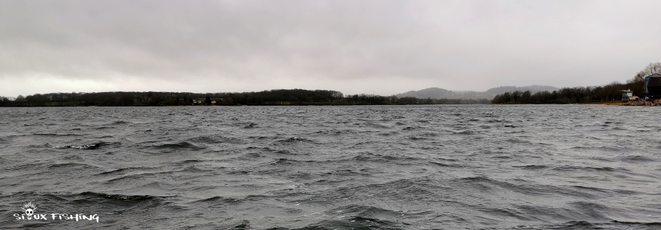
[[(0, 226), (659, 229), (659, 112), (0, 108)], [(14, 218), (28, 200), (48, 220)]]

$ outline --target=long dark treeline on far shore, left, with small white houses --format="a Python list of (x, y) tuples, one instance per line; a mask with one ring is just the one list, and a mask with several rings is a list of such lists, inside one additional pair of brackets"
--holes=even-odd
[(0, 106), (188, 106), (188, 105), (368, 105), (489, 104), (490, 100), (420, 99), (381, 95), (344, 95), (338, 91), (276, 89), (247, 93), (101, 92), (45, 93), (0, 97)]

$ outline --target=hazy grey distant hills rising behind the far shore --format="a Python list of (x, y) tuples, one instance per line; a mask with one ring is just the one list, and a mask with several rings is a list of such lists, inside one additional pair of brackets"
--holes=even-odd
[(448, 99), (492, 99), (495, 95), (514, 92), (514, 91), (530, 91), (531, 93), (536, 93), (538, 91), (554, 91), (558, 90), (556, 87), (549, 87), (543, 85), (531, 85), (527, 87), (496, 87), (487, 89), (487, 91), (450, 91), (447, 89), (441, 89), (437, 87), (421, 89), (419, 91), (408, 91), (406, 93), (399, 93), (395, 96), (397, 97), (418, 97), (418, 98), (448, 98)]

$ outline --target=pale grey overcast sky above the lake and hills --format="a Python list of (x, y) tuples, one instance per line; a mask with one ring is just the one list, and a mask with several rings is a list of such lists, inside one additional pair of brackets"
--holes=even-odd
[(0, 0), (0, 95), (625, 82), (661, 1)]

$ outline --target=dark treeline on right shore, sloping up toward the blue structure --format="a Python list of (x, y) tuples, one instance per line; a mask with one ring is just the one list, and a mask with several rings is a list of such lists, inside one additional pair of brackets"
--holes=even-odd
[(609, 102), (622, 100), (622, 90), (631, 90), (633, 95), (643, 97), (644, 78), (654, 73), (661, 73), (661, 62), (650, 63), (642, 71), (636, 73), (631, 80), (622, 84), (612, 82), (600, 87), (573, 87), (556, 91), (514, 91), (494, 96), (493, 104), (574, 104), (589, 102)]

